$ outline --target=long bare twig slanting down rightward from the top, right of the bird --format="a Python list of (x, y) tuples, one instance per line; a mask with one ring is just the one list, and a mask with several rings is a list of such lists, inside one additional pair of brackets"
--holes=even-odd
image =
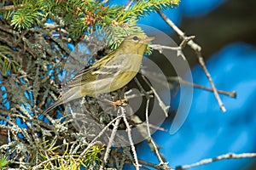
[[(161, 18), (163, 20), (166, 21), (166, 23), (172, 27), (172, 29), (174, 31), (176, 31), (177, 35), (181, 38), (181, 39), (186, 39), (187, 37), (185, 36), (185, 33), (183, 31), (181, 31), (173, 22), (172, 20), (168, 19), (166, 17), (165, 14), (163, 14), (160, 10), (157, 10), (158, 14), (160, 14)], [(204, 59), (202, 58), (202, 55), (201, 55), (201, 47), (195, 43), (193, 40), (189, 40), (188, 42), (188, 45), (190, 46), (190, 48), (192, 48), (194, 51), (195, 51), (195, 54), (199, 60), (199, 63), (201, 65), (201, 67), (203, 68), (203, 70), (205, 71), (206, 75), (207, 75), (207, 78), (212, 86), (212, 90), (213, 90), (213, 94), (215, 95), (215, 98), (217, 99), (218, 101), (218, 105), (220, 107), (220, 109), (225, 112), (226, 109), (224, 107), (224, 104), (222, 102), (222, 100), (220, 99), (219, 95), (218, 95), (218, 90), (215, 88), (215, 85), (214, 83), (212, 82), (212, 77), (211, 75), (209, 74), (209, 72), (207, 71), (207, 67), (205, 65), (205, 62), (204, 62)]]

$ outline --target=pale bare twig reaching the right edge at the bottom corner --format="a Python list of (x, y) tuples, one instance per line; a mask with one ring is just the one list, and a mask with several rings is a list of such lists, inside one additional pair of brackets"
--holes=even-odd
[(242, 154), (228, 153), (228, 154), (224, 154), (224, 155), (209, 158), (209, 159), (204, 159), (190, 165), (183, 165), (182, 167), (177, 167), (177, 169), (180, 169), (180, 170), (189, 169), (191, 167), (198, 167), (201, 165), (212, 163), (213, 161), (221, 161), (224, 159), (241, 159), (241, 158), (252, 158), (252, 157), (256, 157), (256, 153), (242, 153)]

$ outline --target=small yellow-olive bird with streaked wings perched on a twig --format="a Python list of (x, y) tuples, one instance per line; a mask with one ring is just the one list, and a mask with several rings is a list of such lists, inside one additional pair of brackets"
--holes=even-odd
[(80, 71), (67, 82), (61, 98), (50, 105), (43, 115), (52, 111), (57, 105), (79, 99), (85, 95), (96, 96), (123, 88), (137, 75), (142, 64), (143, 54), (154, 37), (135, 34), (125, 37), (119, 48), (99, 59), (89, 68)]

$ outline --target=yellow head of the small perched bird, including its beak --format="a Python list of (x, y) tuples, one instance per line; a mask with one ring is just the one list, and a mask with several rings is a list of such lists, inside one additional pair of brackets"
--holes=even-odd
[(154, 40), (154, 37), (147, 37), (144, 34), (133, 34), (125, 37), (120, 44), (120, 48), (124, 49), (125, 54), (141, 54), (145, 52), (148, 42)]

